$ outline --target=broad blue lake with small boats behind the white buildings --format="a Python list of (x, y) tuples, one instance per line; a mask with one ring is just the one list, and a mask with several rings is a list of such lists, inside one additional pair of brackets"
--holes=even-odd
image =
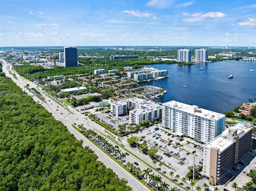
[[(158, 99), (162, 103), (176, 100), (224, 113), (233, 110), (234, 106), (248, 102), (248, 98), (256, 98), (256, 63), (252, 61), (224, 61), (189, 66), (155, 64), (144, 67), (168, 71), (168, 78), (140, 83), (142, 86), (163, 86), (168, 93)], [(228, 79), (229, 75), (234, 78)]]

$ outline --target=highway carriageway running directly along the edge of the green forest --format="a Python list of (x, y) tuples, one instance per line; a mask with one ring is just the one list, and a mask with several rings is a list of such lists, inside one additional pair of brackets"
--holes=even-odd
[[(9, 65), (10, 66), (10, 65)], [(22, 77), (20, 77), (20, 75), (16, 74), (17, 79), (15, 79), (7, 70), (7, 64), (4, 64), (2, 67), (3, 71), (6, 73), (7, 77), (12, 78), (12, 80), (26, 93), (28, 93), (28, 95), (32, 95), (32, 93), (30, 91), (28, 91), (28, 89), (25, 88), (25, 86), (27, 84), (29, 84), (29, 87), (32, 88), (36, 88), (36, 89), (40, 89), (37, 88), (37, 85), (29, 82), (29, 81), (25, 81), (22, 80)], [(11, 69), (11, 68), (10, 68)], [(68, 111), (66, 109), (64, 109), (62, 106), (60, 106), (60, 104), (57, 104), (52, 98), (50, 98), (47, 95), (44, 95), (44, 98), (46, 100), (46, 103), (43, 102), (42, 100), (40, 100), (38, 97), (36, 96), (32, 96), (32, 98), (38, 102), (40, 104), (42, 104), (46, 110), (48, 110), (50, 113), (52, 113), (52, 116), (54, 116), (56, 118), (56, 120), (61, 121), (70, 131), (70, 133), (74, 134), (74, 136), (78, 139), (78, 140), (83, 140), (83, 146), (89, 146), (94, 153), (98, 156), (99, 160), (102, 161), (106, 167), (110, 167), (120, 178), (124, 178), (126, 180), (128, 180), (127, 185), (132, 187), (132, 189), (134, 191), (140, 190), (140, 191), (148, 191), (148, 189), (142, 184), (140, 183), (136, 178), (134, 178), (130, 173), (128, 173), (127, 171), (125, 171), (122, 167), (120, 167), (116, 162), (114, 162), (112, 160), (112, 158), (110, 157), (106, 157), (106, 154), (104, 152), (102, 152), (99, 148), (97, 148), (94, 144), (92, 144), (90, 141), (88, 141), (86, 138), (84, 138), (84, 136), (82, 136), (78, 131), (76, 131), (74, 128), (72, 128), (71, 124), (74, 123), (78, 123), (78, 122), (83, 122), (85, 123), (85, 118), (84, 116), (82, 116), (81, 114), (79, 114), (78, 112), (74, 111), (75, 114), (68, 114)], [(50, 101), (49, 101), (50, 100)], [(57, 107), (58, 106), (58, 107)], [(58, 111), (57, 111), (58, 109)], [(71, 110), (71, 108), (69, 108)], [(63, 114), (60, 114), (63, 113)], [(78, 120), (76, 120), (76, 118), (78, 118)], [(87, 126), (85, 126), (86, 128), (92, 128), (94, 129), (95, 127), (95, 123), (93, 122), (88, 122)], [(132, 157), (132, 156), (130, 156)], [(135, 161), (135, 159), (134, 159)]]

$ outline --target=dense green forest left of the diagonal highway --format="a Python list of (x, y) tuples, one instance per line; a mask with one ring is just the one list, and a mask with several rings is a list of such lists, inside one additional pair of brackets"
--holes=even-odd
[(10, 78), (0, 84), (0, 190), (131, 190)]

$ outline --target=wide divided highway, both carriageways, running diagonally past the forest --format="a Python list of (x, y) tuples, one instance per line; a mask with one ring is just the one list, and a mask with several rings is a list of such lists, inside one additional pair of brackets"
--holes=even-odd
[[(74, 123), (76, 125), (84, 124), (84, 127), (86, 129), (97, 130), (98, 132), (101, 132), (102, 134), (106, 134), (106, 133), (104, 133), (105, 129), (102, 126), (96, 124), (95, 122), (93, 122), (91, 120), (88, 120), (88, 123), (87, 123), (87, 120), (86, 120), (85, 116), (80, 114), (76, 110), (73, 110), (73, 108), (71, 106), (67, 106), (67, 108), (68, 108), (68, 110), (70, 110), (72, 112), (74, 111), (73, 112), (74, 114), (72, 114), (72, 113), (69, 114), (68, 110), (66, 110), (66, 108), (61, 106), (62, 102), (58, 101), (54, 97), (51, 97), (50, 95), (49, 96), (46, 95), (44, 93), (44, 91), (42, 91), (42, 89), (40, 87), (38, 87), (35, 83), (32, 83), (30, 81), (26, 81), (25, 79), (22, 79), (22, 77), (20, 77), (20, 75), (18, 75), (18, 74), (16, 74), (17, 79), (15, 79), (13, 77), (13, 75), (11, 75), (8, 72), (7, 66), (9, 66), (10, 70), (11, 70), (11, 65), (9, 65), (8, 63), (5, 63), (4, 66), (3, 66), (3, 71), (6, 73), (6, 76), (12, 78), (12, 80), (20, 88), (22, 88), (23, 91), (28, 93), (28, 95), (32, 95), (32, 93), (30, 91), (28, 91), (28, 89), (25, 88), (25, 86), (27, 84), (29, 84), (30, 89), (33, 87), (33, 88), (38, 89), (39, 91), (41, 91), (42, 95), (45, 98), (45, 102), (42, 102), (42, 100), (40, 100), (36, 96), (33, 96), (32, 98), (36, 102), (38, 102), (39, 104), (42, 104), (42, 106), (44, 106), (46, 110), (48, 110), (50, 113), (52, 113), (52, 116), (54, 116), (56, 120), (61, 121), (68, 128), (68, 130), (72, 134), (74, 134), (74, 136), (78, 140), (83, 140), (83, 146), (90, 146), (90, 148), (92, 148), (92, 150), (98, 156), (99, 160), (102, 161), (107, 167), (110, 167), (118, 175), (118, 177), (120, 177), (120, 178), (122, 177), (122, 178), (127, 179), (128, 180), (128, 185), (130, 187), (132, 187), (133, 190), (140, 190), (140, 191), (148, 190), (136, 178), (134, 178), (132, 175), (130, 175), (130, 173), (125, 171), (116, 162), (114, 162), (111, 157), (106, 157), (106, 154), (104, 152), (102, 152), (100, 149), (98, 149), (98, 147), (96, 147), (94, 144), (92, 144), (90, 141), (88, 141), (86, 138), (84, 138), (84, 136), (82, 136), (79, 132), (77, 132), (74, 128), (72, 128), (71, 124), (74, 124)], [(114, 142), (114, 141), (110, 141), (110, 142), (112, 142), (113, 145), (116, 144), (116, 142)], [(124, 148), (126, 148), (130, 152), (134, 153), (142, 161), (146, 161), (150, 165), (154, 166), (154, 164), (152, 163), (152, 159), (149, 156), (146, 156), (146, 155), (142, 154), (141, 152), (137, 151), (136, 149), (131, 148), (130, 145), (126, 142), (126, 139), (122, 140), (122, 144), (124, 145)], [(124, 150), (121, 147), (120, 147), (120, 150), (121, 150), (121, 152), (124, 152), (124, 153), (126, 152), (126, 150)], [(144, 170), (148, 167), (144, 162), (138, 160), (137, 158), (135, 158), (132, 155), (126, 156), (125, 162), (128, 162), (128, 161), (130, 161), (130, 163), (134, 163), (135, 161), (138, 162), (138, 164), (139, 164), (138, 167), (140, 167), (141, 170)], [(158, 163), (156, 164), (156, 167), (158, 167)], [(176, 187), (176, 185), (174, 185), (170, 180), (168, 180), (164, 176), (162, 176), (159, 173), (159, 171), (154, 170), (154, 168), (152, 168), (152, 169), (153, 169), (153, 171), (151, 173), (154, 173), (155, 175), (160, 175), (162, 177), (162, 181), (165, 181), (166, 183), (168, 183), (170, 185), (169, 189), (173, 188), (173, 187)], [(162, 166), (162, 171), (164, 171), (164, 170), (167, 171), (167, 172), (170, 171), (170, 170), (166, 169), (166, 167), (164, 167), (164, 165), (163, 165)], [(166, 175), (170, 176), (168, 173), (166, 173)], [(182, 190), (182, 189), (180, 189), (180, 190)]]

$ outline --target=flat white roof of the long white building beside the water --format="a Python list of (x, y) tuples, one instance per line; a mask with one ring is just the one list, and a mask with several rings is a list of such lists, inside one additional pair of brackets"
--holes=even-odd
[(165, 103), (163, 103), (163, 105), (170, 106), (172, 108), (175, 108), (175, 109), (178, 109), (178, 110), (190, 113), (190, 114), (195, 114), (197, 116), (207, 118), (207, 119), (218, 120), (220, 118), (225, 117), (224, 114), (206, 110), (206, 109), (202, 109), (196, 105), (188, 105), (185, 103), (177, 102), (175, 100), (165, 102)]

